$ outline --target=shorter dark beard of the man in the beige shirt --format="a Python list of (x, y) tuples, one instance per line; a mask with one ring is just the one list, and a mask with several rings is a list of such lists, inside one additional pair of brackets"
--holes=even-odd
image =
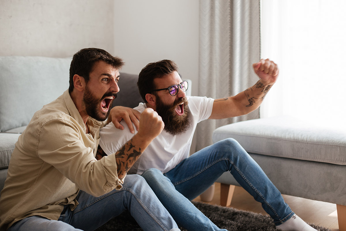
[(106, 120), (108, 115), (109, 115), (109, 113), (110, 113), (110, 109), (113, 106), (112, 102), (109, 105), (107, 113), (101, 112), (99, 107), (100, 107), (102, 99), (104, 97), (107, 97), (107, 96), (114, 96), (115, 98), (117, 98), (117, 94), (116, 93), (108, 92), (108, 93), (104, 94), (101, 99), (98, 99), (96, 96), (94, 96), (91, 93), (91, 91), (89, 89), (89, 86), (86, 86), (86, 88), (84, 90), (84, 94), (83, 94), (83, 104), (85, 106), (86, 113), (90, 117), (96, 119), (97, 121), (104, 121), (104, 120)]

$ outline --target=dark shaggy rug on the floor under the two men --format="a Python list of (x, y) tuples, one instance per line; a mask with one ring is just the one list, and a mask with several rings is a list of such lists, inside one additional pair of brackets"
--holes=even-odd
[[(218, 205), (209, 205), (202, 202), (192, 202), (200, 211), (221, 229), (229, 231), (275, 231), (275, 225), (269, 215), (262, 215), (253, 212), (236, 210), (235, 208), (222, 207)], [(328, 229), (310, 224), (319, 231)], [(182, 231), (186, 231), (180, 227)], [(131, 230), (143, 231), (129, 212), (124, 212), (120, 216), (113, 218), (102, 225), (96, 231), (109, 230)]]

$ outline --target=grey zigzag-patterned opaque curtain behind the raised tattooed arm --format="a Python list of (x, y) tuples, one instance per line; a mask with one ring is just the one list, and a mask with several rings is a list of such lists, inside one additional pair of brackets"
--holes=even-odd
[[(214, 99), (236, 95), (258, 77), (260, 0), (200, 0), (199, 95)], [(234, 118), (207, 120), (197, 127), (197, 150), (212, 144), (215, 128), (259, 117), (258, 110)]]

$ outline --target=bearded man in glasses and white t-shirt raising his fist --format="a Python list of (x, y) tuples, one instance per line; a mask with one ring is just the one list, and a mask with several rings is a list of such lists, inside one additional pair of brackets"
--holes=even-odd
[[(181, 80), (177, 65), (171, 60), (149, 63), (139, 73), (137, 84), (145, 103), (134, 109), (142, 113), (145, 108), (153, 108), (162, 117), (165, 128), (128, 172), (141, 174), (174, 220), (185, 229), (220, 230), (190, 200), (230, 171), (262, 203), (277, 229), (315, 230), (292, 212), (279, 190), (236, 140), (219, 141), (188, 157), (200, 121), (245, 115), (261, 105), (279, 69), (269, 59), (261, 59), (253, 68), (260, 78), (254, 86), (236, 96), (215, 100), (186, 96), (188, 82)], [(119, 130), (109, 124), (101, 129), (101, 156), (116, 152), (131, 139), (134, 134), (124, 127)]]

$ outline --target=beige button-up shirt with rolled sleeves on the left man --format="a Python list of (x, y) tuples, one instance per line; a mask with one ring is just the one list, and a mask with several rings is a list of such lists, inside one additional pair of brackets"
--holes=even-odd
[(95, 159), (104, 123), (89, 117), (86, 124), (88, 134), (68, 90), (34, 114), (11, 155), (0, 230), (33, 215), (58, 220), (64, 205), (78, 205), (79, 189), (101, 196), (122, 187), (115, 154)]

